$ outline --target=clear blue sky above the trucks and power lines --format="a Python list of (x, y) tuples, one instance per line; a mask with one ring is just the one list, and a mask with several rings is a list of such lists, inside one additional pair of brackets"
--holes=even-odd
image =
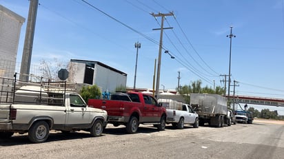
[[(86, 0), (87, 1), (87, 0)], [(88, 0), (114, 19), (159, 43), (161, 18), (167, 17), (163, 46), (176, 57), (162, 54), (160, 84), (175, 89), (178, 72), (181, 85), (201, 79), (203, 85), (222, 86), (220, 74), (229, 74), (230, 26), (232, 80), (239, 81), (236, 94), (284, 98), (284, 1), (217, 0)], [(0, 0), (1, 5), (28, 19), (28, 0)], [(81, 0), (39, 0), (32, 50), (32, 64), (41, 59), (100, 61), (128, 74), (133, 87), (136, 49), (139, 41), (136, 87), (152, 87), (154, 59), (159, 45), (114, 21)], [(17, 61), (21, 61), (26, 23), (21, 30)], [(163, 50), (164, 52), (165, 50)], [(233, 83), (232, 83), (233, 84)], [(163, 87), (160, 86), (162, 89)], [(233, 87), (231, 87), (231, 90)], [(232, 94), (232, 93), (231, 93)]]

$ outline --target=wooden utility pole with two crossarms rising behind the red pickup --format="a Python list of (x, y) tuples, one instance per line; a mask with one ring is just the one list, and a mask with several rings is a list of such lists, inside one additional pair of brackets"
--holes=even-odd
[(163, 13), (158, 13), (158, 14), (154, 14), (152, 13), (153, 17), (161, 17), (161, 28), (159, 29), (153, 29), (153, 30), (161, 30), (161, 34), (160, 34), (160, 44), (159, 44), (159, 57), (158, 57), (158, 70), (156, 72), (156, 92), (155, 92), (155, 97), (158, 98), (159, 95), (159, 85), (160, 85), (160, 72), (161, 72), (161, 56), (162, 56), (162, 47), (163, 47), (163, 30), (164, 29), (172, 29), (172, 28), (163, 28), (163, 21), (165, 19), (166, 16), (173, 16), (174, 13), (170, 12), (168, 14), (163, 14)]

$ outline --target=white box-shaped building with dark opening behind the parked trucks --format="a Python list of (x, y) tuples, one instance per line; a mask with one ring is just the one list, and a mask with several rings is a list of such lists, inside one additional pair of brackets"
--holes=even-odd
[(71, 59), (69, 81), (97, 85), (101, 92), (115, 92), (117, 87), (126, 88), (127, 74), (98, 61)]

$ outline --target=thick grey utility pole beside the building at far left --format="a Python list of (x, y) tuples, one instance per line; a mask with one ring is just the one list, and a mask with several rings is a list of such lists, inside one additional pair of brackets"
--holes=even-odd
[(28, 23), (26, 28), (25, 43), (23, 45), (23, 55), (21, 58), (20, 80), (28, 82), (28, 74), (30, 74), (30, 61), (32, 59), (32, 44), (34, 42), (34, 30), (37, 19), (37, 7), (39, 0), (30, 1), (30, 9), (28, 12)]

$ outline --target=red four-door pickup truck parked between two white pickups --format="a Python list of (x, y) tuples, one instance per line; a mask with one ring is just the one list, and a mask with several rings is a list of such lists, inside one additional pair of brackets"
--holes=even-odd
[(140, 92), (112, 94), (108, 99), (89, 99), (88, 105), (105, 109), (108, 123), (115, 127), (125, 125), (126, 131), (135, 133), (139, 124), (153, 124), (159, 130), (165, 129), (166, 110), (156, 99)]

